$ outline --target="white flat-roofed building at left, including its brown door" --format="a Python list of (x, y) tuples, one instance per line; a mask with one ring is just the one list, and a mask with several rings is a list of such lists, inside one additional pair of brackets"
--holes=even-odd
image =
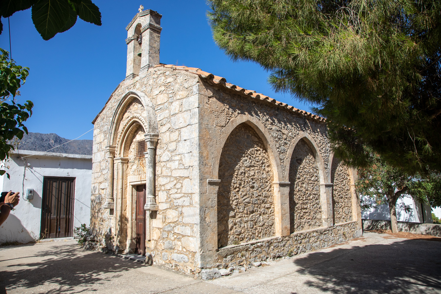
[(0, 190), (21, 198), (0, 226), (0, 244), (72, 237), (74, 227), (90, 225), (92, 156), (16, 150), (6, 166)]

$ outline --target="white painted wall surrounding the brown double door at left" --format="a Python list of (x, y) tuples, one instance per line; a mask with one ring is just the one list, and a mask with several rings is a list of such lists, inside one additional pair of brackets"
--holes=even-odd
[[(38, 153), (38, 154), (37, 154)], [(32, 155), (22, 159), (22, 156)], [(30, 166), (27, 166), (30, 164)], [(40, 236), (43, 177), (75, 177), (74, 227), (90, 225), (92, 156), (18, 150), (6, 162), (11, 179), (2, 176), (2, 191), (20, 192), (19, 205), (0, 226), (0, 243), (30, 242)], [(25, 169), (26, 165), (26, 169)], [(26, 189), (34, 199), (26, 200)]]

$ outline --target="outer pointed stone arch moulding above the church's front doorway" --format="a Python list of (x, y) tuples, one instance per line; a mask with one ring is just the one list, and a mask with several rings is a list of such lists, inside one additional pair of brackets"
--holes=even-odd
[(139, 103), (144, 108), (144, 111), (146, 112), (146, 119), (148, 123), (143, 118), (146, 133), (147, 132), (157, 133), (158, 130), (157, 119), (152, 108), (153, 107), (152, 102), (148, 99), (148, 97), (146, 97), (144, 93), (131, 90), (123, 96), (123, 98), (116, 106), (115, 111), (113, 112), (112, 121), (110, 123), (110, 128), (109, 128), (110, 131), (108, 134), (108, 142), (110, 145), (116, 145), (117, 142), (116, 136), (118, 134), (118, 130), (121, 129), (120, 119), (124, 115), (123, 110), (126, 108), (127, 104), (131, 103), (135, 99), (139, 101)]

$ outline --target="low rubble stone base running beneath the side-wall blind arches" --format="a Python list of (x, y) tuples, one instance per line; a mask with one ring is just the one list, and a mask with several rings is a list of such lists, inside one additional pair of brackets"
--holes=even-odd
[(246, 244), (226, 246), (219, 249), (216, 266), (236, 268), (267, 259), (291, 257), (346, 242), (361, 235), (361, 229), (357, 229), (357, 221), (353, 221), (333, 227), (299, 231), (289, 236), (270, 237)]

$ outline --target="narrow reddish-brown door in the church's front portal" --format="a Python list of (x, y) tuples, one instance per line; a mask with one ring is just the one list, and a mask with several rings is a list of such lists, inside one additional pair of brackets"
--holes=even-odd
[(135, 253), (146, 255), (146, 185), (136, 186), (136, 249)]

